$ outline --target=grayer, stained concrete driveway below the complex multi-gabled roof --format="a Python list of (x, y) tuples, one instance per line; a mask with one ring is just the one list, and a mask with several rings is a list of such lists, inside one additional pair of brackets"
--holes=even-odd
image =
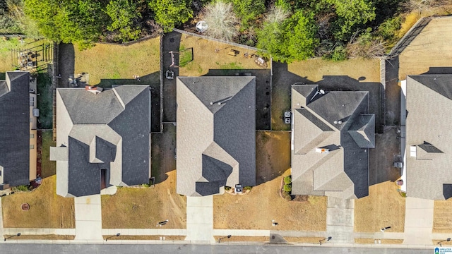
[(328, 197), (326, 233), (335, 243), (354, 243), (355, 200)]

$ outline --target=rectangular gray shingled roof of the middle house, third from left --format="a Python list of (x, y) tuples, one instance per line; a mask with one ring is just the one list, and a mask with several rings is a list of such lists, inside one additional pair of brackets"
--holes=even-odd
[(177, 193), (256, 185), (256, 78), (177, 78)]

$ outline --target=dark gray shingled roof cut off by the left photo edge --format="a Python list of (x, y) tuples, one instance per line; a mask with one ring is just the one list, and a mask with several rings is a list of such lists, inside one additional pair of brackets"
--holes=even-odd
[(0, 168), (10, 187), (30, 183), (29, 87), (28, 72), (7, 72), (0, 81)]

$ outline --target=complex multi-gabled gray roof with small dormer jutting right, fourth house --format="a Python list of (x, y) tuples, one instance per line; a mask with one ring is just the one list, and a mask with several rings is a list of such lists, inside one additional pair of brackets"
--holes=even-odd
[(292, 85), (292, 194), (364, 197), (369, 152), (362, 148), (374, 147), (375, 128), (374, 114), (367, 114), (368, 92), (316, 95), (317, 90)]

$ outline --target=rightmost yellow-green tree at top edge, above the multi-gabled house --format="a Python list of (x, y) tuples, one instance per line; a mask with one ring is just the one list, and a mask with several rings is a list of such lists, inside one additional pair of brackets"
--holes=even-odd
[(358, 25), (375, 19), (375, 7), (371, 0), (326, 0), (332, 4), (338, 18), (335, 20), (336, 40), (347, 40)]

